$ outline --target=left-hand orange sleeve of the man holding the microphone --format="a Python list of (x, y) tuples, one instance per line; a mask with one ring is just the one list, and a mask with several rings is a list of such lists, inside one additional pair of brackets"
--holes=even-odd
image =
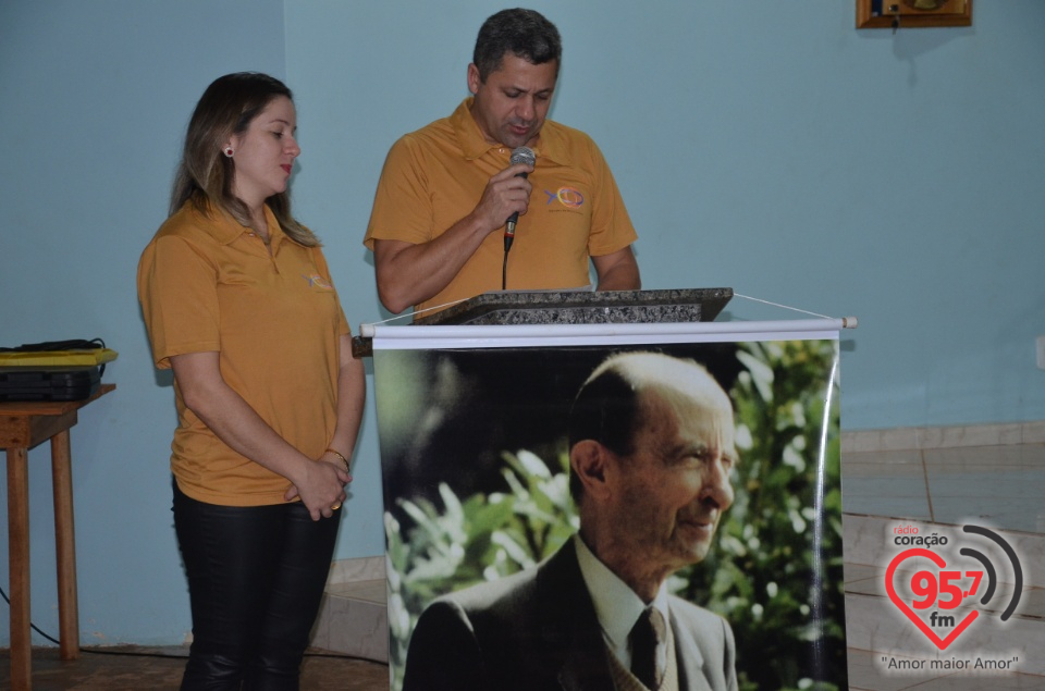
[(378, 181), (364, 245), (396, 239), (420, 245), (432, 239), (432, 199), (420, 151), (406, 135), (392, 145)]

